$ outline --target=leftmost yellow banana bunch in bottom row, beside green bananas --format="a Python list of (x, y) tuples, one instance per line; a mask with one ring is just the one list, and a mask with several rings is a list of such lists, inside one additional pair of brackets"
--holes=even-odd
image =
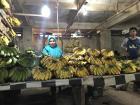
[(49, 70), (41, 70), (40, 67), (35, 67), (32, 70), (32, 76), (35, 80), (49, 80), (52, 78), (52, 73)]

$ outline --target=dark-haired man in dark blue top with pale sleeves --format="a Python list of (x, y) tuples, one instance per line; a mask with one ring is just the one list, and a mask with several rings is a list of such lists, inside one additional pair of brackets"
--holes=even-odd
[(137, 28), (131, 27), (129, 29), (129, 38), (125, 38), (121, 47), (127, 52), (128, 59), (137, 59), (139, 56), (140, 37), (137, 37)]

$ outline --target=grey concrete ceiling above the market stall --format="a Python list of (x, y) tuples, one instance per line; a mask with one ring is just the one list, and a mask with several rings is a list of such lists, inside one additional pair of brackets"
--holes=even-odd
[[(135, 13), (132, 17), (128, 13), (123, 13), (122, 10), (129, 9), (136, 5), (139, 0), (58, 0), (59, 1), (59, 26), (62, 33), (71, 32), (71, 30), (94, 30), (106, 21), (112, 22), (110, 17), (118, 15), (121, 21), (111, 24), (137, 24), (139, 26), (139, 13)], [(138, 2), (137, 2), (138, 1)], [(49, 31), (57, 31), (57, 0), (10, 0), (13, 13), (19, 17), (23, 24), (22, 26), (32, 26), (33, 28), (43, 28)], [(135, 3), (137, 2), (137, 3)], [(40, 16), (41, 7), (47, 4), (51, 9), (50, 18)], [(83, 16), (79, 13), (80, 8), (86, 4), (88, 14)], [(132, 5), (133, 4), (133, 5)], [(138, 5), (139, 8), (139, 5)], [(137, 10), (138, 12), (139, 10)], [(132, 11), (127, 11), (132, 12)], [(124, 15), (125, 14), (125, 15)], [(120, 16), (119, 16), (120, 15)], [(127, 18), (124, 18), (127, 17)], [(116, 17), (117, 18), (117, 17)], [(115, 20), (117, 20), (115, 18)], [(109, 20), (108, 20), (109, 19)], [(114, 20), (114, 21), (115, 21)]]

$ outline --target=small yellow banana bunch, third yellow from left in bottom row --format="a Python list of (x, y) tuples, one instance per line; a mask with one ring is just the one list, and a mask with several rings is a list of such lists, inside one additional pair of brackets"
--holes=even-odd
[(74, 73), (74, 75), (76, 77), (86, 77), (89, 75), (88, 70), (85, 67), (75, 67), (76, 72)]

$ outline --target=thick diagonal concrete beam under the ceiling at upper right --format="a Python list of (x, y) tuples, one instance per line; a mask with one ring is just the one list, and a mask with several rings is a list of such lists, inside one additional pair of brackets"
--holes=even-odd
[(129, 18), (132, 18), (139, 13), (140, 13), (140, 1), (138, 0), (129, 5), (127, 8), (113, 15), (112, 17), (108, 18), (106, 21), (98, 25), (96, 29), (111, 28), (112, 26), (121, 23)]

